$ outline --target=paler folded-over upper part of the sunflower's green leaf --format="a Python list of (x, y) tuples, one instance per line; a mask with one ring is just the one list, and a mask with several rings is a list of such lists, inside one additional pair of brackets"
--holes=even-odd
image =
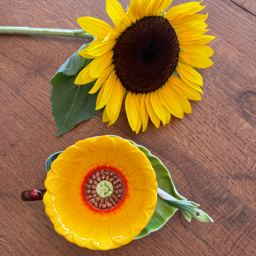
[[(87, 46), (89, 46), (89, 44), (84, 44), (78, 51), (85, 49)], [(58, 72), (55, 74), (55, 76), (58, 73), (63, 73), (66, 74), (68, 76), (70, 75), (75, 75), (79, 69), (81, 69), (84, 64), (85, 61), (87, 59), (85, 59), (84, 57), (80, 56), (77, 53), (74, 53), (62, 66), (61, 68), (58, 70)], [(51, 84), (54, 82), (54, 78), (55, 76), (52, 78), (51, 80)]]

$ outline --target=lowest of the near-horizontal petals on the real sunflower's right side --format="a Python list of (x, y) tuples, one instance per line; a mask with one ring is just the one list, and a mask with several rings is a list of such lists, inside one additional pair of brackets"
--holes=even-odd
[(179, 56), (186, 64), (189, 64), (194, 68), (208, 68), (213, 65), (213, 62), (204, 55), (199, 55), (193, 52), (180, 52)]

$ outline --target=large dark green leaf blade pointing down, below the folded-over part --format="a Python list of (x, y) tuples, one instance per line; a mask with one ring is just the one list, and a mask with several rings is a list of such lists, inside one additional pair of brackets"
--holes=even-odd
[(74, 84), (75, 78), (81, 70), (71, 76), (62, 72), (57, 73), (51, 80), (53, 89), (50, 100), (52, 115), (58, 128), (56, 136), (67, 133), (77, 123), (94, 117), (100, 111), (95, 110), (98, 92), (88, 93), (96, 81), (86, 85)]

